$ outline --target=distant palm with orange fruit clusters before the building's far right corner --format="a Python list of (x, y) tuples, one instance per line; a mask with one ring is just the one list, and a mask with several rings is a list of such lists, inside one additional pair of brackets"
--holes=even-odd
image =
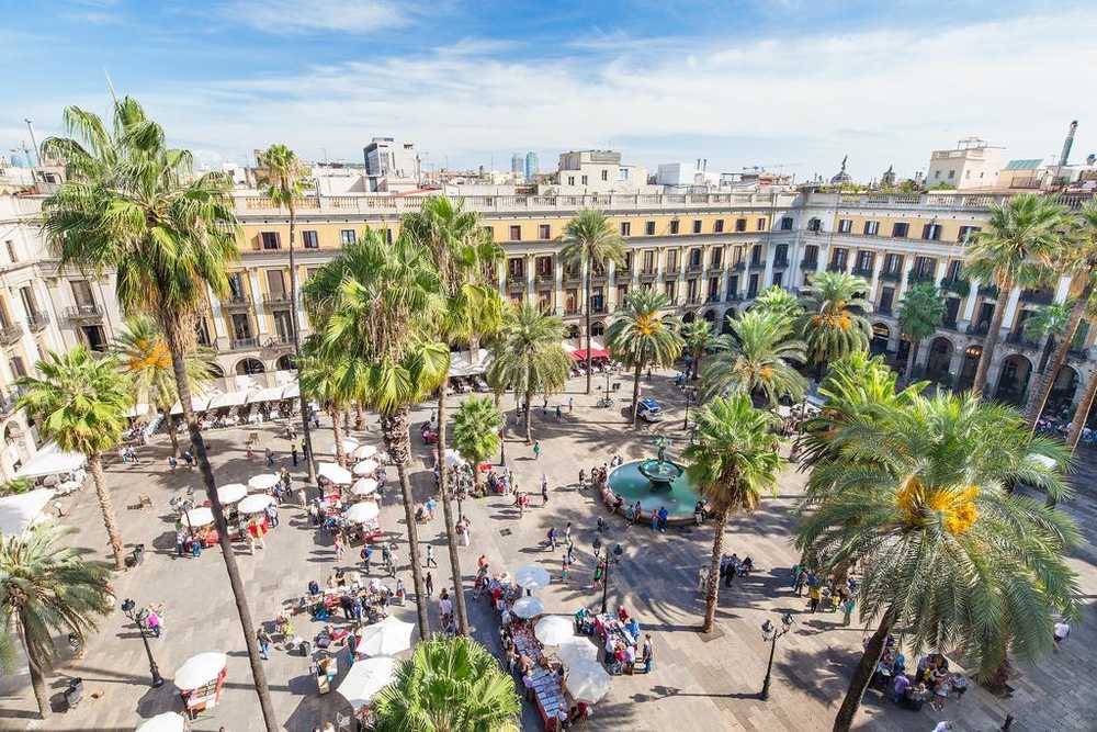
[(863, 278), (846, 272), (818, 272), (804, 288), (804, 342), (819, 381), (826, 363), (869, 348), (872, 328), (864, 313), (872, 304), (861, 294), (868, 290)]

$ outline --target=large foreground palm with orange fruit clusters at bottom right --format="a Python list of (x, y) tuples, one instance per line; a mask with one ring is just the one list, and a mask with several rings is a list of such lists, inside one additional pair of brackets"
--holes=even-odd
[(915, 396), (886, 418), (837, 428), (840, 451), (859, 469), (832, 473), (834, 489), (804, 507), (796, 545), (824, 572), (862, 562), (861, 618), (878, 626), (835, 730), (850, 729), (893, 629), (915, 653), (955, 649), (986, 677), (1007, 651), (1025, 660), (1047, 653), (1055, 616), (1076, 615), (1074, 574), (1061, 554), (1077, 531), (1004, 491), (1048, 470), (1026, 457), (1019, 414), (1019, 429), (993, 428), (1006, 412), (973, 394)]

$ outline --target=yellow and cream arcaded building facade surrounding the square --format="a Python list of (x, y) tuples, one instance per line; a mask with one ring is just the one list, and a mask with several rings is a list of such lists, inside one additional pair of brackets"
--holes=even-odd
[[(215, 352), (222, 390), (237, 379), (260, 385), (279, 382), (292, 368), (292, 312), (303, 329), (308, 319), (290, 296), (289, 224), (284, 211), (256, 192), (238, 191), (240, 259), (229, 294), (208, 294), (197, 324), (200, 342)], [(851, 272), (868, 282), (872, 303), (871, 348), (896, 363), (909, 344), (898, 333), (897, 306), (915, 282), (939, 284), (946, 316), (917, 353), (919, 373), (941, 384), (971, 384), (983, 338), (998, 296), (1006, 297), (1002, 341), (991, 364), (991, 393), (1020, 403), (1032, 373), (1045, 358), (1030, 341), (1025, 320), (1037, 308), (1064, 301), (1068, 283), (1045, 291), (997, 293), (963, 271), (965, 243), (985, 225), (998, 195), (839, 194), (743, 192), (691, 194), (464, 195), (467, 210), (483, 217), (506, 258), (496, 284), (510, 302), (530, 302), (561, 316), (569, 338), (584, 335), (584, 313), (593, 315), (591, 335), (604, 334), (612, 313), (636, 289), (667, 295), (683, 320), (701, 319), (726, 330), (726, 317), (749, 307), (766, 288), (801, 289), (815, 272)], [(399, 235), (400, 216), (423, 195), (308, 196), (298, 206), (296, 263), (302, 282), (339, 248), (366, 229)], [(0, 230), (9, 261), (0, 288), (0, 390), (10, 404), (11, 384), (50, 348), (78, 342), (105, 348), (123, 327), (110, 277), (97, 280), (61, 271), (37, 230), (41, 199), (3, 199)], [(1073, 207), (1082, 196), (1064, 198)], [(580, 210), (604, 211), (626, 245), (622, 267), (577, 271), (559, 259), (558, 237)], [(14, 252), (12, 259), (11, 252)], [(591, 280), (590, 302), (585, 282)], [(1085, 333), (1071, 350), (1052, 403), (1081, 396), (1095, 368), (1095, 334)], [(36, 438), (25, 418), (10, 408), (0, 417), (5, 436), (0, 472), (33, 453)], [(9, 433), (9, 426), (13, 426)], [(9, 439), (10, 438), (10, 439)]]

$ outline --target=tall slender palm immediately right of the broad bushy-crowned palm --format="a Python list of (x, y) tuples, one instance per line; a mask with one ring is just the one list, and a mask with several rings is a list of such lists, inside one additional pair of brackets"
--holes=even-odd
[[(445, 196), (428, 199), (419, 211), (405, 214), (400, 228), (430, 252), (438, 269), (445, 299), (443, 317), (438, 320), (439, 337), (450, 344), (468, 342), (470, 353), (478, 354), (483, 329), (501, 326), (501, 299), (498, 290), (484, 280), (484, 273), (499, 260), (502, 249), (485, 236), (479, 214), (464, 211), (461, 203)], [(466, 635), (468, 613), (450, 499), (449, 466), (441, 459), (445, 455), (445, 396), (450, 382), (449, 373), (445, 376), (438, 387), (438, 488), (450, 570), (457, 590), (453, 594), (457, 632)]]

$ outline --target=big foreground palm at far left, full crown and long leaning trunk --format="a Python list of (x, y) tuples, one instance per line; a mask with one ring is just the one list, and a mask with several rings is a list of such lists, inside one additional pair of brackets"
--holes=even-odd
[(125, 97), (113, 108), (113, 125), (77, 106), (65, 110), (70, 137), (42, 144), (65, 160), (66, 182), (43, 201), (42, 228), (61, 267), (114, 271), (115, 295), (125, 315), (146, 314), (160, 326), (206, 497), (220, 538), (222, 559), (268, 732), (278, 720), (259, 656), (228, 523), (191, 404), (186, 353), (205, 292), (228, 292), (227, 264), (239, 256), (238, 224), (228, 181), (193, 172), (188, 150), (167, 147), (163, 129)]

